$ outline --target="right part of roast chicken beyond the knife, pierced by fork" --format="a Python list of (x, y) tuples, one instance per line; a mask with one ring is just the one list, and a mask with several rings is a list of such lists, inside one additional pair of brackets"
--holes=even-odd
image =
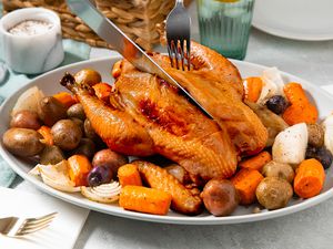
[(214, 117), (244, 154), (261, 151), (268, 139), (268, 131), (243, 102), (242, 79), (238, 69), (225, 58), (195, 42), (191, 43), (193, 70), (171, 68), (169, 58), (154, 54), (163, 66)]

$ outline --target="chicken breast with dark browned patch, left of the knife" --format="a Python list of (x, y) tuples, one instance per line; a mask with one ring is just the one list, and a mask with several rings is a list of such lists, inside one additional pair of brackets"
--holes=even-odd
[(123, 61), (110, 98), (147, 129), (158, 154), (192, 175), (208, 180), (234, 174), (236, 153), (226, 131), (167, 82)]

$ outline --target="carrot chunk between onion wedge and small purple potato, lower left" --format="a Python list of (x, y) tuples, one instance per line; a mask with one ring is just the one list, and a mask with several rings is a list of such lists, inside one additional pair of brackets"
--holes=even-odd
[(87, 186), (87, 176), (92, 166), (87, 156), (73, 155), (68, 158), (69, 176), (75, 186)]

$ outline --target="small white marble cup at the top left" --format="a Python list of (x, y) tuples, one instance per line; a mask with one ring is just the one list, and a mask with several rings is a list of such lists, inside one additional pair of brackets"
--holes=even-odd
[[(8, 32), (27, 20), (52, 23), (48, 31), (32, 35)], [(26, 8), (12, 11), (0, 19), (0, 58), (16, 72), (43, 73), (63, 61), (61, 23), (58, 14), (44, 8)]]

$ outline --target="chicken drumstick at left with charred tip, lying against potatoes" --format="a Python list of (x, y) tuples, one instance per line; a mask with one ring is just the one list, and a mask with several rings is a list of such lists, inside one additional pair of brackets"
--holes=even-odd
[(128, 113), (112, 110), (73, 82), (67, 87), (79, 98), (93, 129), (111, 149), (132, 156), (155, 154), (148, 132)]

